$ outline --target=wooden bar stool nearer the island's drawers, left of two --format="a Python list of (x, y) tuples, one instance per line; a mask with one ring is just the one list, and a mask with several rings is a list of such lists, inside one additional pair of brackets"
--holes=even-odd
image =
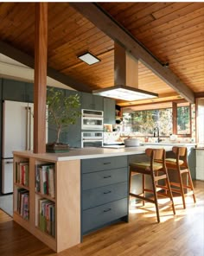
[[(160, 222), (157, 195), (169, 197), (169, 199), (171, 201), (173, 213), (175, 214), (175, 205), (174, 205), (173, 196), (171, 193), (171, 188), (170, 188), (170, 184), (169, 184), (169, 176), (167, 173), (167, 168), (166, 168), (166, 163), (165, 163), (166, 152), (164, 149), (146, 149), (145, 154), (148, 157), (150, 157), (150, 162), (130, 163), (129, 195), (143, 200), (143, 204), (145, 201), (154, 203), (156, 206), (157, 221)], [(156, 163), (156, 160), (161, 161), (161, 163)], [(142, 194), (131, 193), (131, 176), (134, 176), (137, 174), (143, 175), (143, 193)], [(145, 188), (145, 176), (146, 175), (151, 177), (152, 189)], [(159, 184), (158, 181), (161, 181), (161, 180), (164, 181), (163, 182), (164, 184), (161, 184), (161, 182)], [(164, 190), (164, 193), (159, 192), (160, 190)], [(153, 194), (154, 198), (151, 199), (150, 197), (147, 197), (145, 195), (146, 192)], [(167, 204), (169, 204), (169, 202), (163, 203), (163, 206), (166, 206)]]

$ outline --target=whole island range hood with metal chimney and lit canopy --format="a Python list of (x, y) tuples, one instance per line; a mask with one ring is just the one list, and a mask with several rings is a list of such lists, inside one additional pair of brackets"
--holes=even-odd
[(94, 90), (92, 93), (127, 101), (158, 97), (156, 93), (138, 89), (138, 60), (116, 42), (114, 46), (114, 86)]

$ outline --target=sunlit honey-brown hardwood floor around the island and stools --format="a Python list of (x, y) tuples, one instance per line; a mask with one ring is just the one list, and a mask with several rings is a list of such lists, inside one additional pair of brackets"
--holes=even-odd
[[(1, 256), (203, 256), (204, 255), (204, 182), (194, 182), (197, 202), (175, 198), (176, 214), (171, 208), (161, 210), (161, 223), (156, 222), (152, 204), (131, 204), (129, 223), (119, 223), (86, 235), (83, 243), (61, 253), (18, 226), (0, 211)], [(141, 206), (141, 207), (138, 207)], [(150, 207), (149, 207), (150, 206)], [(151, 211), (153, 209), (153, 211)]]

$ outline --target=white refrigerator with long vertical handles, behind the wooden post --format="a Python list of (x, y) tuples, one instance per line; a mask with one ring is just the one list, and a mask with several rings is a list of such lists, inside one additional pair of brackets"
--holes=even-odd
[(13, 192), (13, 151), (33, 150), (34, 105), (3, 102), (2, 193)]

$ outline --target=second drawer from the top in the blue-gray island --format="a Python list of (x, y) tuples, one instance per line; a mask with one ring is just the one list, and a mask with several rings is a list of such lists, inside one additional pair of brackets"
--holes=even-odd
[(127, 167), (86, 173), (82, 176), (82, 190), (94, 189), (128, 179)]

